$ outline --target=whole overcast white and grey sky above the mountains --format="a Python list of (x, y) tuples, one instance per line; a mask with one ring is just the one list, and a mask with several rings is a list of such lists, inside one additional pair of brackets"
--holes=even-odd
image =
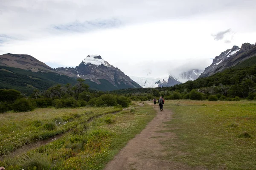
[(204, 69), (256, 42), (256, 0), (0, 0), (0, 54), (52, 68), (100, 54), (125, 74)]

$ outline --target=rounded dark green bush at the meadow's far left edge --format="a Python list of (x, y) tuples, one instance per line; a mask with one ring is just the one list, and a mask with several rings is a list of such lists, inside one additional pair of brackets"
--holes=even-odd
[(25, 111), (33, 111), (35, 107), (32, 103), (25, 98), (17, 99), (12, 105), (12, 109), (15, 112), (25, 112)]

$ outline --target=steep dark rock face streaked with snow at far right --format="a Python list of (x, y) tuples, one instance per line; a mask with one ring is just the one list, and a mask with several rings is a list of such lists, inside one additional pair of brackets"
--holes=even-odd
[(213, 59), (210, 66), (205, 68), (200, 77), (208, 77), (215, 73), (221, 72), (227, 68), (231, 68), (256, 54), (256, 45), (244, 43), (241, 48), (233, 46), (232, 49), (222, 52)]

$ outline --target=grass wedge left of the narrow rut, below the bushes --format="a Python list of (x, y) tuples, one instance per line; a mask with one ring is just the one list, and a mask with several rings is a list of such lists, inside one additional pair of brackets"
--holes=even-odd
[(25, 144), (72, 130), (80, 123), (122, 108), (39, 108), (31, 112), (0, 114), (0, 156)]

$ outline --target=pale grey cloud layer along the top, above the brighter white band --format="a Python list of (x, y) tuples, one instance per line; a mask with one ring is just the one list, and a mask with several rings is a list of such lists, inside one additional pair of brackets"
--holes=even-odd
[(3, 34), (18, 32), (25, 37), (35, 37), (35, 34), (44, 37), (44, 34), (52, 33), (49, 31), (52, 26), (81, 31), (84, 24), (96, 20), (118, 18), (122, 25), (148, 23), (190, 18), (238, 6), (248, 8), (248, 4), (256, 5), (256, 1), (244, 0), (241, 6), (241, 0), (1, 0), (0, 23)]

